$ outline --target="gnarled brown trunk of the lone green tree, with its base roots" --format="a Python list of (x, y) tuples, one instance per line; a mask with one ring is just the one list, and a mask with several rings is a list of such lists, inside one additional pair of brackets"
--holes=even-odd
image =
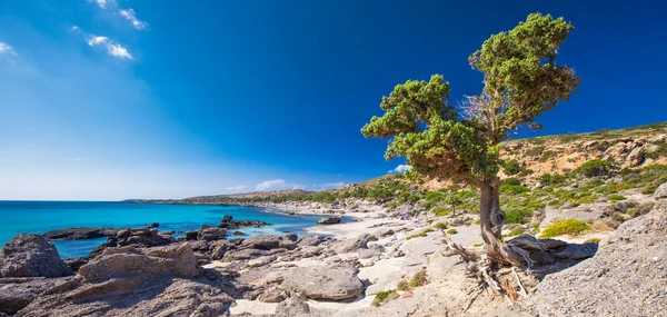
[(480, 186), (479, 221), (481, 238), (487, 245), (487, 257), (498, 264), (518, 267), (530, 265), (527, 252), (517, 247), (508, 247), (501, 240), (505, 212), (500, 209), (500, 181), (484, 181)]

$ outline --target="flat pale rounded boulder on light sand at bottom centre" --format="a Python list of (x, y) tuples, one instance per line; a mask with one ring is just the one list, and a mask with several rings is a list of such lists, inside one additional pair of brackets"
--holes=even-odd
[(285, 276), (280, 288), (310, 299), (344, 300), (361, 295), (364, 283), (347, 266), (297, 267)]

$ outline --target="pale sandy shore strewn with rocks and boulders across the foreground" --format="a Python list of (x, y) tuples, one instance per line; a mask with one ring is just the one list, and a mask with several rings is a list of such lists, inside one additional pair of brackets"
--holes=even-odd
[[(466, 225), (477, 216), (401, 220), (400, 211), (358, 200), (253, 205), (354, 219), (326, 220), (302, 237), (238, 238), (232, 230), (266, 224), (225, 217), (180, 239), (157, 228), (117, 230), (88, 258), (67, 262), (47, 237), (19, 235), (0, 252), (0, 316), (659, 316), (667, 304), (667, 202), (656, 200), (599, 250), (548, 240), (556, 260), (541, 273), (518, 271), (528, 296), (512, 305), (490, 293), (470, 305), (477, 281), (442, 241), (479, 248), (478, 227)], [(644, 285), (648, 297), (614, 293), (628, 283)], [(586, 301), (591, 293), (599, 296)]]

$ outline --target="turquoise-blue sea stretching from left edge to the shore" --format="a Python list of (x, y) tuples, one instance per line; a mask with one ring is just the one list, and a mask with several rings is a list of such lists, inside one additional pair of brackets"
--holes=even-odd
[[(225, 215), (235, 220), (262, 220), (261, 228), (239, 230), (248, 236), (263, 234), (306, 234), (320, 216), (289, 216), (280, 210), (212, 205), (157, 205), (99, 201), (0, 201), (0, 246), (17, 234), (44, 234), (72, 227), (142, 227), (159, 222), (160, 231), (196, 230), (201, 225), (218, 225)], [(349, 220), (349, 219), (345, 219)], [(86, 256), (107, 238), (53, 241), (62, 258)]]

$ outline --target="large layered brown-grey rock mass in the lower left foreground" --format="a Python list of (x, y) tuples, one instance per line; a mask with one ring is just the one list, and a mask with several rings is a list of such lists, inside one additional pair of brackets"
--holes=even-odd
[(225, 285), (196, 267), (188, 244), (109, 248), (16, 316), (225, 316), (233, 301)]

